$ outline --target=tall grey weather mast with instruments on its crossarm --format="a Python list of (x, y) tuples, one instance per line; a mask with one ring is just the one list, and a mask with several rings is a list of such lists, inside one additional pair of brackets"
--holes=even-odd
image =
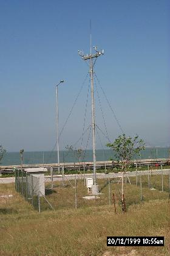
[[(97, 46), (94, 46), (95, 53), (92, 54), (92, 35), (90, 34), (90, 54), (84, 55), (83, 51), (78, 51), (78, 54), (83, 60), (89, 60), (89, 73), (91, 84), (92, 98), (92, 140), (93, 140), (93, 160), (94, 160), (94, 185), (92, 186), (92, 194), (99, 193), (96, 177), (96, 153), (95, 153), (95, 102), (94, 102), (94, 65), (98, 57), (104, 54), (104, 50), (98, 51)], [(94, 61), (95, 60), (95, 61)]]

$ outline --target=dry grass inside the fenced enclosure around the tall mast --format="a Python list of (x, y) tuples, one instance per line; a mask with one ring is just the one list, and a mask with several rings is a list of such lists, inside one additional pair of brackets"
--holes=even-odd
[[(139, 179), (140, 177), (138, 177)], [(100, 187), (100, 199), (93, 201), (83, 199), (83, 196), (88, 196), (87, 188), (84, 187), (84, 180), (77, 180), (77, 207), (86, 208), (92, 206), (101, 206), (113, 204), (112, 194), (115, 194), (115, 201), (117, 212), (121, 212), (121, 182), (118, 183), (120, 178), (110, 179), (110, 197), (109, 197), (109, 185), (108, 179), (98, 179), (98, 185)], [(131, 185), (128, 183), (124, 184), (124, 196), (126, 200), (127, 208), (133, 204), (141, 203), (141, 192), (142, 192), (142, 201), (151, 201), (154, 199), (169, 199), (169, 176), (166, 175), (163, 177), (163, 188), (164, 191), (161, 192), (161, 175), (151, 176), (150, 186), (151, 188), (156, 187), (155, 190), (148, 189), (148, 176), (142, 176), (142, 191), (140, 190), (140, 180), (138, 180), (138, 186), (136, 185), (136, 178), (130, 177)], [(124, 179), (125, 182), (125, 179)], [(75, 208), (75, 181), (70, 180), (69, 182), (65, 181), (66, 187), (63, 187), (62, 182), (54, 182), (54, 189), (47, 190), (46, 198), (53, 205), (53, 208), (56, 210), (59, 209), (69, 209)], [(50, 183), (46, 183), (47, 187), (50, 187)], [(110, 198), (110, 199), (109, 199)], [(49, 208), (49, 205), (46, 201), (41, 198), (41, 210)]]

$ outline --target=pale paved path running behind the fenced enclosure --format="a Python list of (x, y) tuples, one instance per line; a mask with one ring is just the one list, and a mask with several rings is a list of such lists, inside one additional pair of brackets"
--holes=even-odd
[[(132, 171), (132, 172), (126, 172), (126, 175), (128, 177), (133, 177), (133, 176), (148, 176), (148, 170), (146, 171)], [(170, 175), (170, 169), (163, 169), (161, 171), (161, 169), (157, 169), (157, 170), (149, 170), (149, 174), (152, 175), (160, 175), (160, 174), (164, 174), (164, 175)], [(125, 175), (125, 176), (126, 176)], [(67, 174), (64, 176), (65, 180), (73, 180), (75, 179), (75, 176), (77, 177), (77, 179), (84, 179), (84, 174)], [(93, 174), (85, 174), (85, 177), (93, 177)], [(106, 177), (110, 177), (110, 178), (116, 178), (116, 177), (121, 177), (121, 172), (109, 172), (109, 174), (105, 174), (103, 173), (97, 173), (97, 179), (106, 179)], [(62, 180), (62, 175), (55, 175), (53, 176), (53, 181), (60, 181)], [(50, 176), (45, 176), (45, 181), (46, 182), (50, 182)], [(9, 178), (1, 178), (0, 177), (0, 184), (7, 184), (7, 183), (14, 183), (15, 182), (15, 177), (9, 177)]]

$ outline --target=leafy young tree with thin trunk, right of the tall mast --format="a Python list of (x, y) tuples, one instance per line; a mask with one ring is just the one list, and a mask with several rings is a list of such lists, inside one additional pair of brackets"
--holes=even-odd
[(112, 148), (115, 151), (115, 158), (120, 164), (122, 169), (122, 184), (121, 184), (121, 204), (123, 212), (126, 211), (124, 202), (124, 191), (123, 191), (123, 178), (126, 169), (129, 168), (131, 160), (135, 155), (140, 155), (140, 152), (145, 149), (144, 141), (138, 138), (136, 135), (134, 138), (126, 137), (125, 134), (119, 135), (114, 143), (106, 144), (107, 147)]

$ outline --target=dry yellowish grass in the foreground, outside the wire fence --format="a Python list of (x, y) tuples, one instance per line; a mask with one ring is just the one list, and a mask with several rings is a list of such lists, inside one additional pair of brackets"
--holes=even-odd
[[(59, 188), (47, 196), (56, 205), (57, 196), (61, 197)], [(126, 184), (127, 188), (135, 197), (138, 187)], [(104, 189), (107, 191), (107, 186)], [(115, 214), (113, 205), (104, 204), (38, 213), (16, 193), (14, 184), (0, 185), (0, 195), (13, 194), (8, 199), (0, 197), (0, 255), (170, 255), (170, 201), (163, 199), (166, 192), (157, 193), (161, 199), (129, 202), (127, 213)], [(66, 198), (60, 201), (64, 204)], [(122, 235), (165, 236), (165, 246), (106, 246), (106, 236)]]

